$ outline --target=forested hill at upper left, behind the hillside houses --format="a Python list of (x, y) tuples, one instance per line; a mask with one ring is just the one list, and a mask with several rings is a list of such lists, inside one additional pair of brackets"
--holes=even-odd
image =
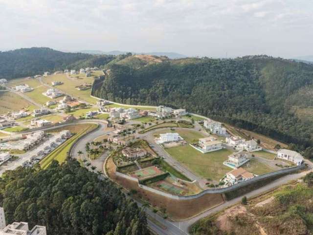
[(110, 62), (112, 55), (66, 53), (45, 47), (22, 48), (0, 52), (0, 78), (16, 78), (43, 74), (45, 71), (100, 67)]

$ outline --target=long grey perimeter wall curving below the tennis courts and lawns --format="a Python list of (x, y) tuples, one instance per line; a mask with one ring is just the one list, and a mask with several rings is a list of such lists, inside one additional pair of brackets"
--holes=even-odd
[(201, 196), (203, 196), (205, 194), (226, 193), (226, 192), (234, 191), (236, 189), (243, 188), (243, 187), (248, 186), (250, 184), (256, 183), (256, 182), (258, 182), (260, 180), (269, 179), (269, 178), (273, 178), (273, 177), (284, 175), (284, 174), (288, 174), (288, 173), (293, 173), (293, 172), (296, 172), (296, 171), (298, 171), (300, 169), (304, 169), (304, 168), (305, 168), (305, 164), (301, 164), (301, 165), (293, 166), (293, 167), (290, 167), (290, 168), (285, 168), (285, 169), (277, 170), (277, 171), (274, 171), (274, 172), (269, 172), (267, 174), (263, 174), (263, 175), (254, 177), (253, 179), (246, 180), (246, 181), (244, 181), (242, 183), (239, 183), (239, 184), (236, 184), (236, 185), (232, 185), (232, 186), (227, 187), (227, 188), (205, 189), (205, 190), (203, 190), (202, 192), (200, 192), (200, 193), (198, 193), (196, 195), (189, 195), (189, 196), (172, 195), (172, 194), (169, 194), (169, 193), (166, 193), (166, 192), (154, 189), (154, 188), (150, 188), (150, 187), (145, 186), (145, 185), (141, 185), (141, 184), (139, 184), (138, 179), (136, 179), (134, 177), (131, 177), (129, 175), (122, 174), (120, 172), (115, 172), (115, 174), (117, 176), (120, 176), (120, 177), (129, 179), (129, 180), (135, 181), (135, 182), (137, 182), (139, 188), (143, 188), (143, 189), (145, 189), (147, 191), (156, 193), (158, 195), (165, 196), (165, 197), (168, 197), (168, 198), (171, 198), (171, 199), (176, 199), (176, 200), (191, 200), (191, 199), (199, 198), (199, 197), (201, 197)]

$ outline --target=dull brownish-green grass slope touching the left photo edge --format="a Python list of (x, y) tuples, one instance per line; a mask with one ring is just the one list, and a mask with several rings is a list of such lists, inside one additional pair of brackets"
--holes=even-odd
[(31, 107), (31, 103), (11, 92), (0, 92), (0, 114)]

